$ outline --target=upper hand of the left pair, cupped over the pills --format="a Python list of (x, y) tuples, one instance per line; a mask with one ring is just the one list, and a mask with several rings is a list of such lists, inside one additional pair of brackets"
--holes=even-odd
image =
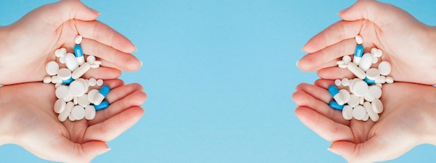
[(136, 47), (125, 36), (95, 19), (99, 13), (80, 1), (50, 3), (24, 15), (10, 26), (0, 27), (0, 84), (42, 81), (45, 65), (54, 61), (54, 51), (66, 47), (73, 52), (77, 35), (84, 37), (84, 54), (102, 61), (101, 68), (87, 75), (116, 79), (120, 71), (139, 70), (141, 62), (132, 54)]

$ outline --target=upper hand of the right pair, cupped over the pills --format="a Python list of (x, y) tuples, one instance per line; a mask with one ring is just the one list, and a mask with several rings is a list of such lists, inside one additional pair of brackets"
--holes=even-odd
[(303, 71), (318, 71), (323, 79), (350, 76), (337, 68), (342, 56), (354, 54), (355, 36), (361, 35), (365, 52), (372, 47), (382, 49), (383, 61), (392, 65), (396, 81), (436, 84), (436, 31), (412, 15), (378, 1), (357, 1), (339, 13), (343, 19), (313, 36), (303, 51), (307, 52), (298, 66)]

